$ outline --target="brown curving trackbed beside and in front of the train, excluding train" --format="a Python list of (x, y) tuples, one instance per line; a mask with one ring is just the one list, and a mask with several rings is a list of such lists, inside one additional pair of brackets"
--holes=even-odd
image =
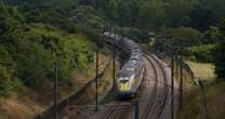
[(134, 106), (138, 101), (140, 119), (170, 119), (170, 81), (169, 71), (155, 55), (144, 54), (144, 80), (133, 100), (127, 102), (112, 101), (101, 107), (94, 119), (134, 119)]

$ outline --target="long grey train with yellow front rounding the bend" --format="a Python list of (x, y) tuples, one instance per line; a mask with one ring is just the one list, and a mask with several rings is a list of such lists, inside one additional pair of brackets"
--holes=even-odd
[(114, 32), (104, 32), (106, 43), (119, 49), (128, 54), (128, 62), (117, 74), (117, 97), (127, 100), (135, 96), (144, 72), (143, 52), (137, 43), (129, 38), (116, 35)]

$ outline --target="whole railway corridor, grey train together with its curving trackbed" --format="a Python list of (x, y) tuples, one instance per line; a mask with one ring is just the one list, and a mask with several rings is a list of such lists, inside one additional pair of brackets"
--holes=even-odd
[(130, 57), (117, 74), (114, 98), (82, 118), (171, 119), (170, 67), (156, 55), (143, 52), (131, 39), (112, 32), (104, 36), (108, 44)]

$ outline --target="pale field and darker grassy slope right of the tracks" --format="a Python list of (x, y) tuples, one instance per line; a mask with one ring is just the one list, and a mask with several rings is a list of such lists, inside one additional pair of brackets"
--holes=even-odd
[[(216, 80), (213, 64), (187, 62), (195, 76), (203, 80), (209, 119), (225, 117), (225, 82)], [(185, 83), (187, 83), (185, 81)], [(185, 91), (184, 107), (178, 119), (204, 119), (202, 95), (198, 87)]]

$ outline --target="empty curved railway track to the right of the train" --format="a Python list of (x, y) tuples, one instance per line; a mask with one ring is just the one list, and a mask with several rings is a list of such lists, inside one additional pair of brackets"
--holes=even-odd
[[(160, 119), (164, 111), (168, 98), (167, 74), (160, 61), (149, 53), (145, 52), (145, 58), (151, 64), (155, 72), (155, 85), (151, 96), (148, 97), (147, 107), (141, 119)], [(161, 85), (161, 87), (160, 87)], [(162, 89), (162, 90), (161, 90)], [(160, 90), (160, 91), (159, 91)], [(154, 104), (154, 105), (151, 105)]]

